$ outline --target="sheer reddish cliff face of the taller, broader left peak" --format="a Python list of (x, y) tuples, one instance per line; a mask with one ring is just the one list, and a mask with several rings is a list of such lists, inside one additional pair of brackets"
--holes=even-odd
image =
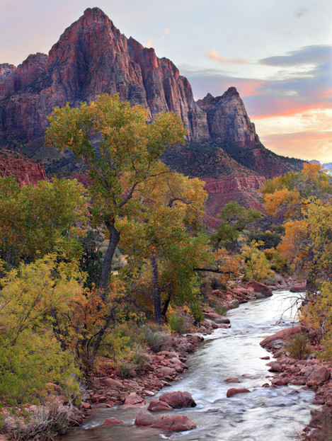
[(0, 137), (31, 141), (42, 136), (55, 105), (77, 106), (101, 93), (120, 93), (151, 116), (175, 111), (190, 137), (208, 136), (206, 114), (174, 64), (125, 38), (101, 9), (88, 8), (48, 55), (29, 55), (17, 69), (0, 65)]

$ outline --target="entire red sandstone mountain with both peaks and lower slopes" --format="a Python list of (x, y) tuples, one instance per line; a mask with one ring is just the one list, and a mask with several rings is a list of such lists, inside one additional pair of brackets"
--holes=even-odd
[(216, 214), (231, 200), (263, 212), (265, 178), (302, 164), (263, 147), (236, 88), (195, 103), (188, 79), (169, 59), (126, 38), (99, 8), (86, 9), (48, 55), (29, 55), (18, 67), (0, 64), (0, 146), (25, 144), (23, 152), (42, 161), (50, 176), (81, 173), (72, 155), (43, 146), (47, 115), (56, 105), (77, 106), (101, 93), (119, 93), (152, 118), (160, 111), (181, 116), (188, 144), (166, 152), (164, 161), (205, 181), (210, 227), (217, 227)]

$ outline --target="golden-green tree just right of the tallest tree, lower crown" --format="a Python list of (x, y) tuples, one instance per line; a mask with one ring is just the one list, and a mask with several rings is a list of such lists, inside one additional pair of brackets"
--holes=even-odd
[[(172, 173), (161, 162), (154, 174), (135, 189), (142, 205), (134, 222), (118, 219), (117, 228), (132, 268), (145, 271), (147, 265), (151, 267), (154, 319), (161, 324), (171, 299), (184, 302), (191, 296), (193, 268), (199, 258), (207, 260), (207, 241), (197, 234), (207, 193), (202, 181)], [(166, 299), (161, 309), (163, 293)]]

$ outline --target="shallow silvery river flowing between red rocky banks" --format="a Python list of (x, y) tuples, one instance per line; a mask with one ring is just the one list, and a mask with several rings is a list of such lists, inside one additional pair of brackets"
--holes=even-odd
[[(79, 430), (73, 430), (62, 441), (287, 441), (299, 440), (296, 432), (309, 422), (314, 393), (300, 386), (265, 388), (268, 382), (268, 353), (259, 345), (272, 333), (290, 326), (294, 311), (290, 309), (290, 292), (275, 292), (273, 297), (243, 304), (228, 312), (231, 328), (217, 329), (205, 336), (196, 353), (188, 360), (189, 369), (178, 382), (164, 387), (166, 391), (189, 391), (195, 408), (173, 410), (186, 415), (197, 428), (182, 433), (133, 425), (139, 409), (98, 409)], [(283, 314), (282, 314), (283, 313)], [(239, 384), (223, 382), (237, 377)], [(226, 398), (227, 389), (246, 387), (250, 394)], [(105, 425), (105, 418), (115, 416), (125, 425)]]

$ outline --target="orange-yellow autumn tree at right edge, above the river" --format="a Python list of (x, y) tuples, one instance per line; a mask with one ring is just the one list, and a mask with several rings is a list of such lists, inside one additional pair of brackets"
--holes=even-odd
[(308, 293), (319, 290), (328, 274), (328, 238), (331, 233), (331, 194), (329, 176), (321, 166), (304, 164), (299, 173), (289, 173), (263, 188), (268, 214), (282, 212), (285, 235), (277, 250), (302, 277), (307, 277)]

